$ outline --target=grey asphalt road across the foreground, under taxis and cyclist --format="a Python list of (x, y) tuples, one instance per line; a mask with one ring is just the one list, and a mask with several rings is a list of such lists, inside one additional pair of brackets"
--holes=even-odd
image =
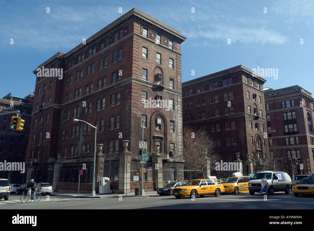
[(264, 201), (263, 196), (249, 193), (219, 197), (189, 197), (177, 199), (174, 196), (122, 197), (122, 198), (66, 198), (43, 195), (40, 202), (21, 203), (20, 195), (10, 195), (8, 201), (0, 200), (0, 209), (313, 209), (314, 197), (293, 193), (276, 192)]

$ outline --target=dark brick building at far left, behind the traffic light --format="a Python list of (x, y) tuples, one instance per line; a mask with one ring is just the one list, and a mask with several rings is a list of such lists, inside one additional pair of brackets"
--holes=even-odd
[[(0, 99), (0, 162), (25, 162), (26, 149), (30, 137), (33, 97), (34, 95), (28, 95), (21, 98), (12, 96), (9, 93)], [(18, 110), (21, 118), (25, 120), (23, 131), (10, 129), (11, 118), (17, 115)], [(9, 111), (13, 113), (1, 114)], [(8, 178), (10, 183), (24, 183), (24, 175), (20, 171), (0, 171), (0, 178)]]

